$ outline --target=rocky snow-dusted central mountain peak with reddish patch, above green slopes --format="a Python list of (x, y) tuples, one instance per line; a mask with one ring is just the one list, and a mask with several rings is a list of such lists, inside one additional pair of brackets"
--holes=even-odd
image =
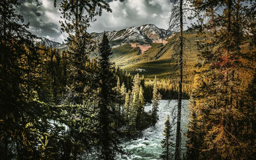
[[(91, 33), (93, 39), (100, 40), (102, 33)], [(122, 45), (122, 44), (152, 44), (152, 42), (164, 38), (168, 38), (172, 35), (169, 30), (157, 28), (154, 24), (145, 24), (139, 27), (125, 28), (120, 31), (107, 31), (106, 35), (109, 38), (109, 44)]]

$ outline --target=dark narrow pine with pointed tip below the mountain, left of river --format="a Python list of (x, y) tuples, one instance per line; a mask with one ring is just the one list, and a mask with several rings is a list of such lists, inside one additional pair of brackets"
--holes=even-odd
[(102, 42), (99, 45), (100, 53), (100, 74), (99, 74), (99, 142), (100, 158), (114, 159), (117, 152), (123, 152), (118, 143), (116, 129), (111, 126), (112, 118), (115, 118), (115, 76), (113, 67), (109, 61), (112, 54), (108, 37), (104, 33)]

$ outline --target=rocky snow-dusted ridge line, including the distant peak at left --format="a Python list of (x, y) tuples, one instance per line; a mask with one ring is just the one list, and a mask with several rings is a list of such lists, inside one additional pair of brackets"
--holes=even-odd
[[(100, 41), (104, 32), (90, 33), (95, 41)], [(123, 44), (138, 44), (150, 45), (154, 42), (161, 42), (172, 35), (172, 31), (157, 28), (154, 24), (144, 24), (141, 26), (132, 26), (129, 28), (120, 29), (119, 31), (106, 31), (111, 47), (120, 46)], [(36, 38), (36, 43), (45, 44), (46, 47), (64, 49), (65, 44), (54, 42), (45, 37)]]

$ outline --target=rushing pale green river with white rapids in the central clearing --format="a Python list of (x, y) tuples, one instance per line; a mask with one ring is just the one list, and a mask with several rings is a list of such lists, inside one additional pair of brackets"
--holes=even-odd
[[(152, 104), (145, 106), (145, 111), (150, 111)], [(166, 116), (170, 116), (172, 120), (173, 116), (177, 113), (177, 100), (160, 100), (158, 116), (159, 120), (155, 126), (149, 127), (142, 131), (142, 135), (134, 140), (124, 141), (125, 149), (131, 152), (130, 156), (118, 156), (118, 159), (161, 159), (161, 153), (163, 149), (161, 147), (161, 140), (163, 140), (164, 122)], [(181, 151), (186, 151), (186, 138), (184, 133), (187, 131), (186, 124), (188, 123), (188, 100), (182, 100), (182, 113), (181, 113)], [(176, 125), (174, 125), (176, 131)], [(175, 138), (174, 138), (175, 139)], [(173, 150), (174, 153), (174, 150)]]

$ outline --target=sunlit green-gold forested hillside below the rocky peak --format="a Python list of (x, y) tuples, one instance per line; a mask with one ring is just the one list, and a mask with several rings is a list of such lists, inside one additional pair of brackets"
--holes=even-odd
[[(195, 64), (198, 51), (196, 42), (202, 39), (192, 31), (184, 34), (186, 38), (184, 49), (184, 99), (188, 99), (194, 81)], [(166, 39), (166, 43), (152, 43), (150, 48), (141, 53), (139, 47), (131, 47), (131, 44), (124, 44), (114, 47), (111, 61), (117, 66), (129, 72), (131, 75), (137, 73), (145, 76), (145, 84), (152, 90), (154, 77), (159, 78), (158, 86), (163, 99), (175, 99), (178, 93), (179, 61), (173, 44), (177, 42), (177, 33)], [(151, 89), (150, 89), (151, 88)]]

